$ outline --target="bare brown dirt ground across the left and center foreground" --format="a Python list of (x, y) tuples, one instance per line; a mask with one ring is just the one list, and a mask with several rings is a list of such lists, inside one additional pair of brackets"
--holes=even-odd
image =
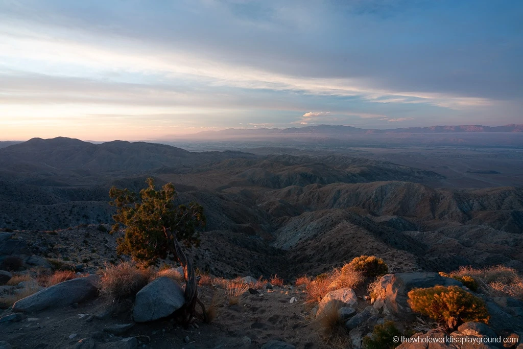
[[(77, 308), (41, 311), (29, 314), (21, 322), (0, 323), (0, 337), (16, 349), (73, 348), (85, 337), (93, 337), (97, 347), (104, 347), (104, 343), (131, 336), (137, 337), (139, 347), (158, 349), (259, 348), (269, 340), (282, 340), (298, 349), (326, 347), (301, 288), (273, 286), (259, 290), (259, 294), (245, 292), (233, 306), (229, 306), (223, 290), (213, 286), (200, 288), (200, 298), (206, 305), (214, 293), (219, 306), (217, 317), (210, 324), (196, 321), (195, 325), (184, 328), (174, 320), (158, 320), (134, 324), (116, 336), (104, 332), (104, 328), (131, 323), (131, 303), (117, 305), (99, 297)], [(292, 297), (296, 301), (290, 303)], [(0, 316), (8, 313), (4, 311)]]

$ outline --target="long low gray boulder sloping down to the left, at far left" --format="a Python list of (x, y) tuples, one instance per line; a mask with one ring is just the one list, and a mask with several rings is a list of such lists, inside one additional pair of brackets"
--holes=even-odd
[(33, 312), (47, 308), (67, 307), (93, 298), (98, 293), (98, 277), (92, 275), (68, 280), (20, 299), (13, 305), (14, 311)]

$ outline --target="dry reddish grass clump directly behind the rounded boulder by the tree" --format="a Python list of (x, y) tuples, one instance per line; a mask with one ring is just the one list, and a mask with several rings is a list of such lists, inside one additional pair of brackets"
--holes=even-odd
[(132, 262), (106, 264), (100, 274), (101, 294), (116, 299), (135, 296), (155, 275), (152, 269), (139, 267)]

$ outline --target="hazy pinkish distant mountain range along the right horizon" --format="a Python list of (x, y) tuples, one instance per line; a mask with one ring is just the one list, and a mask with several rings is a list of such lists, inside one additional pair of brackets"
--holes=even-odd
[(202, 131), (188, 136), (285, 136), (286, 134), (386, 134), (386, 133), (474, 133), (474, 132), (523, 132), (523, 124), (511, 123), (504, 126), (458, 125), (408, 127), (396, 129), (362, 129), (343, 125), (317, 125), (305, 127), (225, 129), (220, 131)]

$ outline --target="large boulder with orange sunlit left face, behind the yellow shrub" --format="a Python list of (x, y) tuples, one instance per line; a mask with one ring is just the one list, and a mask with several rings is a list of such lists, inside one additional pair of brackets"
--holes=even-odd
[(408, 291), (413, 288), (428, 288), (437, 285), (462, 286), (458, 280), (442, 277), (438, 273), (407, 272), (385, 275), (374, 290), (377, 294), (374, 308), (383, 308), (385, 314), (393, 314), (400, 319), (414, 320), (415, 314), (407, 303)]

